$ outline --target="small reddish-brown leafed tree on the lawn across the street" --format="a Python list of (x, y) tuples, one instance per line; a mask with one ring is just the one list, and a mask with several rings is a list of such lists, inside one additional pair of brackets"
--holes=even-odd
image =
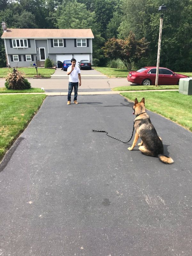
[(111, 38), (103, 47), (104, 55), (110, 59), (120, 59), (128, 70), (131, 70), (134, 63), (146, 56), (148, 42), (145, 38), (135, 39), (135, 35), (130, 32), (129, 36), (123, 39)]

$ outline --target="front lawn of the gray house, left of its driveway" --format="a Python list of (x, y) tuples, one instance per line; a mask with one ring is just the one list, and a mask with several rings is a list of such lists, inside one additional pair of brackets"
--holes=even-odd
[[(25, 77), (33, 77), (36, 75), (36, 68), (18, 68), (18, 70), (25, 73)], [(0, 68), (0, 77), (6, 76), (7, 73), (10, 72), (9, 68)], [(38, 74), (44, 77), (51, 77), (51, 75), (55, 72), (54, 68), (37, 68)]]

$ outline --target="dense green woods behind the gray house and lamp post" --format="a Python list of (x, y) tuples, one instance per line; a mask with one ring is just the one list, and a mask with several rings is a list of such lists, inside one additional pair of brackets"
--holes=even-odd
[[(192, 1), (166, 0), (163, 4), (167, 11), (163, 22), (160, 66), (191, 71)], [(160, 0), (0, 0), (0, 21), (5, 21), (8, 28), (91, 28), (95, 36), (93, 61), (100, 66), (118, 58), (118, 54), (106, 54), (111, 42), (118, 39), (118, 43), (124, 41), (126, 46), (131, 35), (134, 42), (140, 44), (136, 47), (131, 42), (127, 48), (121, 49), (126, 54), (129, 48), (133, 55), (134, 49), (140, 51), (128, 65), (140, 68), (156, 65), (160, 19), (157, 10), (161, 5)], [(142, 41), (145, 54), (138, 46)], [(4, 66), (4, 42), (0, 40), (0, 67)]]

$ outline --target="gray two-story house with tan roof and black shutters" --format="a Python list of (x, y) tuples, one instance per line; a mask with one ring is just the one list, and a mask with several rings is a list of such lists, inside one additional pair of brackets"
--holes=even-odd
[(33, 63), (44, 66), (49, 58), (58, 61), (89, 60), (92, 63), (92, 30), (6, 28), (2, 22), (7, 66), (30, 67)]

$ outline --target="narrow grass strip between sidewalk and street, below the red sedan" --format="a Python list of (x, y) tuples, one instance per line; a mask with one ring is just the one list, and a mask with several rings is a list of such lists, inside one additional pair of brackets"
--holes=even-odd
[(131, 85), (131, 86), (118, 86), (112, 88), (113, 91), (143, 91), (143, 90), (162, 90), (162, 89), (179, 89), (179, 85)]

